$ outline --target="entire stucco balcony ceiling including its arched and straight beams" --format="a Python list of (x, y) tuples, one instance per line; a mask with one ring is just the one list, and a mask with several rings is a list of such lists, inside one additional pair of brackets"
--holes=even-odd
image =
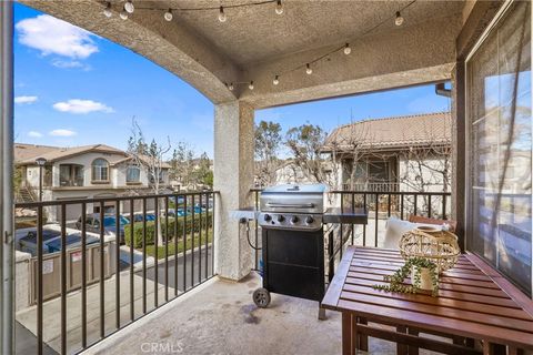
[[(133, 0), (135, 11), (119, 18), (124, 0), (20, 0), (147, 57), (191, 83), (214, 103), (235, 99), (257, 108), (447, 80), (462, 27), (462, 1), (304, 1), (230, 8), (259, 0)], [(174, 10), (168, 8), (225, 8)], [(153, 10), (154, 8), (161, 10)], [(363, 36), (364, 34), (364, 36)], [(351, 55), (326, 55), (313, 75), (291, 71), (350, 42)], [(272, 78), (282, 74), (280, 84)], [(254, 90), (248, 84), (254, 81)], [(235, 83), (229, 90), (228, 83)]]

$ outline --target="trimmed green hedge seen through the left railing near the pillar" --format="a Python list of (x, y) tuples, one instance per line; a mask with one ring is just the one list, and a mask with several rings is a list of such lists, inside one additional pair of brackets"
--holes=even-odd
[[(205, 212), (202, 214), (194, 214), (194, 232), (200, 231), (200, 219), (202, 224), (202, 230), (205, 230)], [(178, 223), (178, 237), (183, 235), (183, 223), (184, 217), (169, 217), (169, 237), (167, 239), (167, 225), (164, 224), (164, 217), (161, 219), (161, 230), (163, 240), (172, 240), (174, 235), (174, 224)], [(213, 226), (213, 219), (212, 212), (208, 213), (208, 226)], [(190, 234), (192, 232), (192, 215), (187, 216), (187, 230), (185, 233)], [(130, 245), (130, 235), (131, 235), (131, 227), (132, 224), (127, 224), (124, 226), (124, 239), (125, 244)], [(154, 244), (154, 236), (155, 236), (155, 222), (148, 221), (147, 222), (147, 245)], [(133, 247), (141, 247), (142, 246), (142, 222), (133, 223)]]

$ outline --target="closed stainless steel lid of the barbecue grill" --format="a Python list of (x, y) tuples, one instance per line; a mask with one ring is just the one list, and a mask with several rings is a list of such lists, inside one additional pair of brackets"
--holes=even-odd
[(261, 193), (261, 212), (324, 213), (325, 184), (271, 186)]

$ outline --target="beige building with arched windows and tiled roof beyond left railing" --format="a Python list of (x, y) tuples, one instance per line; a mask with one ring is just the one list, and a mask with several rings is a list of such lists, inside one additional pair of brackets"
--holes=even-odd
[[(40, 168), (37, 159), (44, 159)], [(127, 152), (105, 144), (73, 148), (14, 144), (14, 162), (20, 171), (19, 200), (39, 200), (39, 180), (42, 179), (42, 200), (87, 200), (153, 193), (153, 176)], [(163, 163), (160, 184), (169, 184), (170, 165)], [(104, 212), (112, 212), (115, 202), (104, 202)], [(151, 206), (149, 206), (150, 209)], [(152, 206), (153, 207), (153, 206)], [(81, 207), (80, 207), (81, 209)], [(121, 206), (129, 212), (129, 205)], [(57, 221), (60, 207), (48, 209), (48, 220)], [(100, 212), (100, 205), (88, 203), (87, 212)], [(68, 209), (67, 220), (81, 215), (78, 209)]]

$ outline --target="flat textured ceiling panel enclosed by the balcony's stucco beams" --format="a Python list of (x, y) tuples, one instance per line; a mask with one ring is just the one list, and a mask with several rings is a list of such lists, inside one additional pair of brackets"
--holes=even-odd
[[(248, 0), (172, 0), (137, 1), (138, 7), (203, 8), (219, 3), (231, 6)], [(178, 24), (184, 24), (219, 52), (240, 67), (271, 61), (299, 51), (350, 41), (368, 34), (395, 30), (394, 13), (411, 1), (283, 1), (284, 13), (274, 11), (275, 3), (227, 8), (228, 20), (218, 20), (219, 10), (174, 11)], [(402, 16), (403, 27), (460, 13), (461, 1), (422, 1), (409, 7)], [(148, 10), (139, 10), (148, 11)]]

